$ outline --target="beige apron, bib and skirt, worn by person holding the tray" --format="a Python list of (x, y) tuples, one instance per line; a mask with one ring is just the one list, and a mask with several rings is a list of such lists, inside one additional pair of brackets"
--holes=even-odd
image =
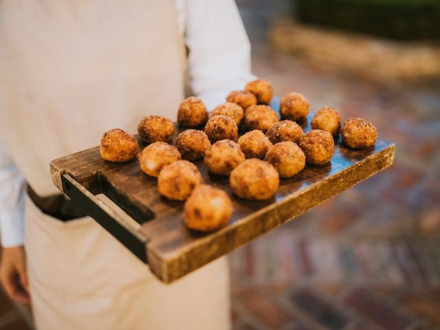
[[(174, 120), (183, 54), (170, 0), (1, 1), (1, 135), (32, 188), (56, 193), (49, 162), (108, 129)], [(62, 223), (28, 199), (25, 222), (39, 329), (230, 327), (224, 258), (164, 285), (89, 217)]]

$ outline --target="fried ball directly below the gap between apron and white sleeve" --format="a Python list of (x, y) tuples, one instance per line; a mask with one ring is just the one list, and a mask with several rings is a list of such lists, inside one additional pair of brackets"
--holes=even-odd
[(208, 120), (208, 110), (205, 104), (195, 96), (186, 98), (181, 102), (177, 111), (177, 122), (183, 126), (197, 127), (202, 126)]

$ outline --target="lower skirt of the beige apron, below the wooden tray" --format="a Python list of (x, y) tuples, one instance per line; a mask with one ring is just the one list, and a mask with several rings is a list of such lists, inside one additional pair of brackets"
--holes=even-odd
[(63, 223), (26, 201), (38, 329), (230, 329), (225, 257), (164, 285), (89, 217)]

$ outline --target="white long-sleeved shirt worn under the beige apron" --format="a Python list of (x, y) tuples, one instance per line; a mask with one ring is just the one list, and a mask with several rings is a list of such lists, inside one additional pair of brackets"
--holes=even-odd
[[(7, 1), (15, 0), (4, 2)], [(212, 109), (225, 100), (229, 91), (243, 89), (245, 83), (254, 78), (250, 74), (250, 43), (243, 23), (232, 0), (175, 0), (174, 3), (179, 32), (189, 50), (187, 65), (190, 87), (208, 109)], [(50, 9), (52, 15), (57, 14), (56, 6)], [(0, 30), (1, 23), (0, 16)], [(0, 43), (0, 47), (4, 46)], [(148, 61), (148, 58), (144, 61)], [(134, 61), (131, 65), (135, 67), (140, 63)], [(0, 234), (2, 245), (10, 247), (22, 245), (24, 240), (25, 179), (14, 164), (8, 145), (2, 142), (5, 139), (1, 134)], [(39, 191), (38, 186), (34, 188)]]

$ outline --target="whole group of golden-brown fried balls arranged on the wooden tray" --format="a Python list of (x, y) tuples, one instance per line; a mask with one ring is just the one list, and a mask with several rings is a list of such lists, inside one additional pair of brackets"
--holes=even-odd
[(186, 226), (210, 232), (227, 225), (234, 208), (226, 192), (203, 184), (193, 162), (203, 159), (211, 175), (229, 176), (237, 197), (263, 200), (273, 198), (280, 177), (298, 175), (306, 164), (331, 162), (334, 139), (339, 135), (349, 148), (375, 144), (377, 130), (371, 122), (349, 118), (341, 127), (340, 113), (333, 107), (317, 111), (311, 131), (304, 133), (301, 124), (310, 111), (307, 98), (299, 93), (283, 96), (278, 118), (270, 106), (273, 96), (267, 80), (253, 80), (243, 91), (231, 91), (211, 117), (199, 98), (186, 98), (177, 111), (177, 122), (184, 130), (174, 145), (175, 124), (150, 115), (137, 126), (140, 139), (147, 144), (141, 153), (133, 135), (112, 129), (102, 136), (101, 157), (109, 162), (128, 162), (138, 155), (140, 169), (157, 177), (160, 195), (186, 201)]

